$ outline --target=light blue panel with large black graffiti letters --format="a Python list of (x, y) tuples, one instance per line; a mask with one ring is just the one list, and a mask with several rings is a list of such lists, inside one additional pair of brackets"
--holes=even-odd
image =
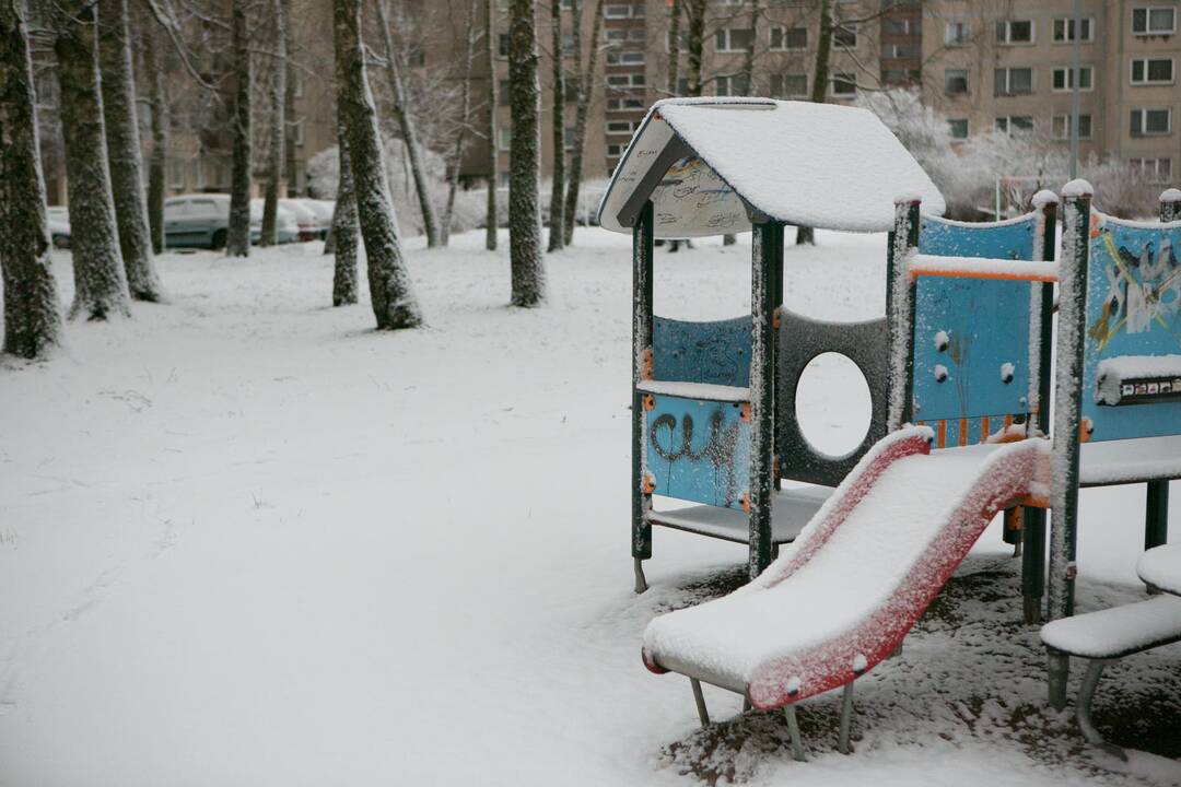
[(750, 424), (732, 402), (654, 396), (646, 415), (655, 494), (742, 510), (750, 488)]

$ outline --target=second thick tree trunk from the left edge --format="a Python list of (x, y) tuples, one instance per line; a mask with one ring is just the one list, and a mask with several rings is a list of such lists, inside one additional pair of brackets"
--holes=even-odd
[(98, 8), (89, 0), (60, 0), (56, 5), (53, 52), (61, 92), (70, 247), (74, 261), (70, 317), (87, 320), (131, 314), (106, 162), (97, 20)]

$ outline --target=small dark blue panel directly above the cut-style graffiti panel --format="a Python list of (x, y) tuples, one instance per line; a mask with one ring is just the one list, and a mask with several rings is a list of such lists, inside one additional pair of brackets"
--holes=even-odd
[(655, 317), (652, 354), (657, 380), (750, 385), (750, 317), (683, 322)]

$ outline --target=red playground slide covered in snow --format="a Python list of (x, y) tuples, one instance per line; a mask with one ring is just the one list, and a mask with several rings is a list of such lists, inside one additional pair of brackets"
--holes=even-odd
[(756, 581), (648, 624), (644, 662), (778, 708), (843, 686), (893, 651), (993, 516), (1044, 488), (1049, 442), (931, 452), (883, 438)]

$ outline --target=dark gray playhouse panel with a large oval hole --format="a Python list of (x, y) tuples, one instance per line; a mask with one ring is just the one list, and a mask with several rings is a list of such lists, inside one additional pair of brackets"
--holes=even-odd
[[(811, 320), (784, 308), (781, 309), (778, 352), (779, 395), (775, 404), (775, 415), (779, 476), (796, 481), (836, 486), (869, 447), (886, 435), (889, 393), (889, 332), (886, 317), (866, 322), (828, 322)], [(814, 358), (823, 353), (847, 356), (861, 369), (869, 386), (869, 431), (860, 446), (842, 457), (833, 457), (813, 447), (796, 419), (800, 375)]]

